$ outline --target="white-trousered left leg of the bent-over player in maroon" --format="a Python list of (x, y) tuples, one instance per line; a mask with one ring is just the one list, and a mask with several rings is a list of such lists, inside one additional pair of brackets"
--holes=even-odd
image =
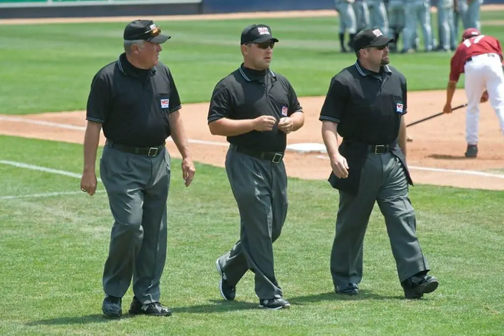
[(466, 141), (468, 145), (478, 144), (479, 104), (481, 95), (485, 91), (485, 74), (480, 73), (484, 68), (481, 58), (466, 63), (465, 91), (467, 97), (466, 111)]

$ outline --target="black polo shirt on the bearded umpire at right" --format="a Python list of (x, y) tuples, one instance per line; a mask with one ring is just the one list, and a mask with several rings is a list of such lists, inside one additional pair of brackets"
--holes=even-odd
[(406, 112), (404, 75), (387, 65), (373, 73), (357, 61), (331, 79), (319, 120), (338, 123), (346, 140), (391, 144)]

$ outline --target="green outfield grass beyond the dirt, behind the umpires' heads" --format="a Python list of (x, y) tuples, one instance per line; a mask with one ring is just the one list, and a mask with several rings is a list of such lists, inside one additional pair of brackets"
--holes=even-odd
[[(485, 20), (502, 17), (504, 11), (482, 12), (483, 32), (504, 40), (502, 26), (485, 25)], [(432, 20), (437, 35), (435, 15)], [(173, 71), (182, 103), (210, 99), (216, 82), (241, 62), (241, 30), (259, 21), (160, 22), (163, 32), (172, 35), (161, 60)], [(272, 68), (289, 78), (299, 96), (326, 94), (330, 78), (355, 61), (352, 53), (339, 52), (336, 16), (261, 22), (271, 25), (280, 39)], [(122, 52), (123, 28), (124, 23), (0, 26), (0, 114), (85, 109), (93, 75)], [(410, 90), (444, 89), (450, 57), (394, 54), (392, 65), (406, 75)]]

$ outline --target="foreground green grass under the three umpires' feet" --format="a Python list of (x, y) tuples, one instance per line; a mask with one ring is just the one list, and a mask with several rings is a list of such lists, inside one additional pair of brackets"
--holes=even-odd
[[(82, 146), (0, 136), (0, 160), (80, 173)], [(19, 148), (23, 148), (22, 151)], [(502, 193), (417, 186), (410, 190), (418, 236), (439, 289), (403, 300), (385, 224), (374, 209), (365, 239), (362, 294), (333, 293), (329, 257), (337, 193), (324, 181), (289, 179), (290, 209), (275, 243), (286, 311), (257, 309), (253, 277), (237, 301), (220, 299), (215, 258), (238, 237), (238, 212), (225, 172), (197, 164), (184, 188), (172, 161), (168, 260), (162, 302), (169, 318), (101, 317), (101, 272), (111, 214), (102, 185), (0, 164), (0, 334), (166, 335), (500, 335), (504, 330)], [(329, 166), (328, 166), (329, 169)], [(7, 196), (76, 191), (74, 195)], [(125, 296), (127, 310), (131, 290)]]

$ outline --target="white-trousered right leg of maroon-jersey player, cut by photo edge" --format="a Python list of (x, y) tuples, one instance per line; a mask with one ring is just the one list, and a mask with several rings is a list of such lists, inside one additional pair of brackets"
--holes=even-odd
[(486, 90), (488, 92), (488, 101), (495, 110), (499, 120), (500, 130), (504, 135), (504, 69), (498, 57), (489, 58), (486, 72), (488, 77), (486, 81)]

